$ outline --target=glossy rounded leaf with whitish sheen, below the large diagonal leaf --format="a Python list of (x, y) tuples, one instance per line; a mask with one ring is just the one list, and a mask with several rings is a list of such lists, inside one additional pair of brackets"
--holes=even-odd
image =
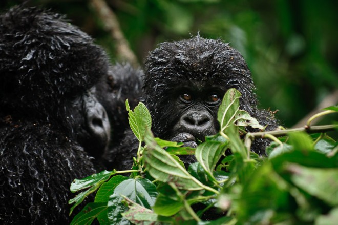
[(147, 179), (129, 178), (122, 181), (108, 201), (108, 218), (114, 224), (126, 223), (126, 219), (123, 219), (121, 215), (128, 210), (128, 207), (122, 203), (123, 196), (150, 209), (155, 203), (157, 191), (155, 185)]

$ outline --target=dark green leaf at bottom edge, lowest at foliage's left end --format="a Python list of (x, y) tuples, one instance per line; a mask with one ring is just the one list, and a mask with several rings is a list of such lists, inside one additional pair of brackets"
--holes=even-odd
[(88, 203), (72, 220), (71, 225), (91, 224), (94, 219), (107, 210), (107, 202)]

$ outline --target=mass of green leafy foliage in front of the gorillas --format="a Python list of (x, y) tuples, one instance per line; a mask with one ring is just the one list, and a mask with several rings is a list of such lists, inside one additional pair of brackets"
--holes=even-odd
[[(265, 132), (275, 141), (266, 150), (268, 157), (261, 158), (249, 151), (255, 133), (244, 140), (239, 134), (246, 126), (264, 127), (239, 110), (239, 98), (237, 90), (228, 90), (218, 113), (220, 132), (196, 150), (154, 138), (145, 106), (132, 111), (127, 102), (140, 141), (133, 169), (76, 179), (71, 190), (83, 192), (70, 200), (73, 208), (99, 190), (72, 224), (95, 218), (100, 224), (335, 224), (337, 142), (325, 134), (286, 130), (277, 139)], [(224, 157), (227, 149), (233, 154)], [(177, 153), (195, 154), (197, 162), (186, 170)], [(130, 177), (115, 175), (126, 172)], [(208, 212), (212, 220), (203, 221)]]

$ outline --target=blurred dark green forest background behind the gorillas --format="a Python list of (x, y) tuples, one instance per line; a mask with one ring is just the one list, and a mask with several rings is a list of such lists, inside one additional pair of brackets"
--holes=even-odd
[[(1, 0), (0, 10), (25, 1)], [(338, 2), (312, 0), (31, 0), (66, 14), (111, 56), (123, 60), (95, 4), (117, 17), (142, 65), (164, 41), (196, 35), (221, 38), (238, 49), (252, 72), (261, 108), (279, 110), (292, 127), (323, 101), (338, 101)], [(104, 9), (101, 9), (104, 10)], [(323, 108), (323, 106), (320, 106)], [(324, 122), (338, 120), (328, 116)], [(304, 125), (304, 124), (303, 124)]]

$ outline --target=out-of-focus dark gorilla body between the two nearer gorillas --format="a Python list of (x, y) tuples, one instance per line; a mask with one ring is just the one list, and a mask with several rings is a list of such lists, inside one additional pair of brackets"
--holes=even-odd
[(124, 140), (124, 136), (131, 138), (128, 122), (128, 112), (125, 100), (128, 99), (131, 108), (135, 108), (142, 101), (143, 71), (134, 69), (130, 64), (124, 63), (111, 66), (107, 76), (103, 76), (95, 85), (95, 96), (107, 111), (111, 125), (111, 139), (101, 162), (108, 170), (116, 167), (115, 151)]

